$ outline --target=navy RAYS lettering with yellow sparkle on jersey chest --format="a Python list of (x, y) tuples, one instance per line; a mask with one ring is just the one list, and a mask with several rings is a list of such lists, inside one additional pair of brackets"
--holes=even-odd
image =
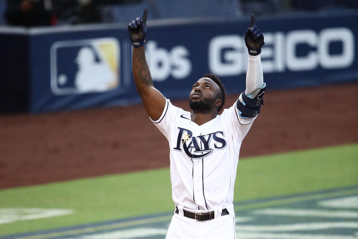
[[(182, 151), (190, 158), (204, 158), (211, 154), (214, 149), (223, 149), (226, 147), (225, 135), (222, 131), (217, 131), (210, 134), (199, 135), (192, 137), (193, 133), (184, 128), (178, 127), (178, 139), (174, 150)], [(212, 143), (212, 139), (214, 142)]]

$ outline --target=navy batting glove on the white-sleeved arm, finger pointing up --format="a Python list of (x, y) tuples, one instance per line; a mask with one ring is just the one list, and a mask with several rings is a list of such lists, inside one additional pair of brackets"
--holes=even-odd
[(251, 15), (250, 28), (247, 28), (244, 39), (249, 55), (257, 56), (261, 53), (261, 47), (265, 42), (262, 33), (255, 26), (255, 14)]

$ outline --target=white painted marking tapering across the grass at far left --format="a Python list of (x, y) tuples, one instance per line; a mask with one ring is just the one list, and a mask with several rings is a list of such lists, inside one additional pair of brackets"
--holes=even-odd
[(0, 208), (0, 224), (73, 214), (71, 209)]

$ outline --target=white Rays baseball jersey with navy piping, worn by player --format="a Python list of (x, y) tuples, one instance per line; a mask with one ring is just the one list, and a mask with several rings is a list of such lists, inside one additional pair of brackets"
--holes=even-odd
[(221, 115), (197, 125), (190, 112), (166, 100), (162, 115), (153, 123), (169, 141), (176, 205), (194, 210), (232, 205), (241, 142), (254, 119), (240, 118), (235, 102)]

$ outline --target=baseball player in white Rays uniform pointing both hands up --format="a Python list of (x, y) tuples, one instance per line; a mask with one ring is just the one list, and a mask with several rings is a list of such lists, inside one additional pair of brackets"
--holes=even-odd
[(234, 182), (243, 138), (260, 112), (266, 84), (260, 60), (263, 35), (251, 16), (245, 33), (249, 53), (246, 90), (229, 109), (218, 77), (204, 75), (189, 94), (191, 112), (171, 104), (153, 86), (144, 43), (148, 9), (129, 24), (132, 70), (137, 92), (150, 119), (169, 141), (170, 178), (175, 212), (166, 238), (235, 238)]

